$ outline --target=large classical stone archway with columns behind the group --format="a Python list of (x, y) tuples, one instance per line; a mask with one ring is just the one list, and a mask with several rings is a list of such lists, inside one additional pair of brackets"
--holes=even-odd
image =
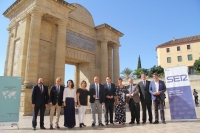
[[(52, 86), (56, 77), (64, 81), (65, 64), (74, 64), (75, 83), (105, 82), (119, 77), (121, 32), (94, 25), (89, 11), (64, 0), (17, 0), (5, 12), (10, 18), (5, 76), (22, 77), (20, 112), (32, 113), (31, 88), (43, 77)], [(48, 110), (47, 110), (48, 112)]]

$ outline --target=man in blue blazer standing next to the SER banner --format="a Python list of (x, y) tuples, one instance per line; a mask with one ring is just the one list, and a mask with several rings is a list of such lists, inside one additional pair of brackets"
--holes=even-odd
[(164, 115), (164, 99), (165, 99), (165, 91), (166, 86), (164, 81), (158, 79), (158, 74), (153, 74), (154, 80), (151, 81), (149, 85), (149, 92), (151, 93), (151, 99), (153, 100), (154, 105), (154, 112), (155, 112), (155, 122), (153, 124), (158, 124), (158, 106), (160, 107), (160, 115), (163, 124), (165, 122), (165, 115)]

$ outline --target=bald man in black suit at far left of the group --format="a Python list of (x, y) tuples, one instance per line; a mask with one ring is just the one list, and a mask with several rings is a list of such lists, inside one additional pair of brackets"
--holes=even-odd
[(37, 115), (40, 110), (40, 129), (46, 129), (44, 127), (44, 112), (49, 103), (49, 93), (48, 87), (43, 85), (44, 80), (42, 78), (38, 79), (38, 84), (33, 86), (32, 89), (32, 107), (34, 108), (33, 119), (32, 119), (32, 129), (35, 130), (37, 126)]

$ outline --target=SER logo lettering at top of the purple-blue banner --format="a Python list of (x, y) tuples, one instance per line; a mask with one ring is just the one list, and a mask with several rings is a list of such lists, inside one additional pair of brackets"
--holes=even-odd
[(181, 81), (188, 81), (186, 74), (175, 75), (175, 76), (168, 76), (167, 77), (167, 83), (181, 82)]

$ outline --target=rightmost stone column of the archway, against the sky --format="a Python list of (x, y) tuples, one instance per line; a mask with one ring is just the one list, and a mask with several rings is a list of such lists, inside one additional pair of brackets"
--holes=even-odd
[(117, 79), (120, 76), (120, 72), (119, 72), (119, 45), (115, 45), (114, 49), (113, 49), (113, 68), (114, 68), (114, 72), (113, 72), (113, 79), (114, 79), (114, 83), (117, 85)]

